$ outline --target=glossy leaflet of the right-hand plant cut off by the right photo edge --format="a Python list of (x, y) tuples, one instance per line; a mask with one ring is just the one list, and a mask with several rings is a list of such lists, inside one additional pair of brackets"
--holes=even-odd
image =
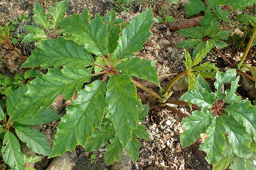
[(249, 100), (242, 100), (239, 103), (233, 102), (228, 105), (225, 112), (242, 124), (256, 140), (256, 106), (252, 106)]

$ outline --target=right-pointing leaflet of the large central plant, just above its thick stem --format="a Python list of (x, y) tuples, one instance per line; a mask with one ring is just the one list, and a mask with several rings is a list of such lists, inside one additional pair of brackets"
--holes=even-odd
[(138, 57), (130, 58), (118, 64), (116, 70), (129, 76), (148, 80), (160, 86), (157, 70), (155, 67), (151, 66), (151, 62), (148, 60), (139, 59)]

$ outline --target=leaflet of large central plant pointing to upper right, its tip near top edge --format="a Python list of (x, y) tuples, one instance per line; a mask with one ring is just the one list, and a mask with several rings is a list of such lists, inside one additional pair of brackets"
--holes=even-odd
[(122, 36), (119, 37), (116, 48), (116, 58), (119, 60), (129, 58), (132, 57), (135, 52), (141, 50), (143, 44), (152, 34), (149, 32), (149, 27), (153, 23), (151, 7), (143, 11), (138, 17), (132, 19), (131, 23), (125, 26)]

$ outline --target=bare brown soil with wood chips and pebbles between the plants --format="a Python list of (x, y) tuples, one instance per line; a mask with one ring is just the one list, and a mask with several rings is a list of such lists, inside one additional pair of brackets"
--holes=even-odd
[[(48, 13), (50, 5), (54, 5), (56, 0), (38, 0), (38, 2), (46, 9), (46, 13)], [(134, 7), (135, 2), (132, 1), (130, 4), (125, 5), (125, 7), (130, 9), (127, 12), (122, 12), (123, 9), (121, 5), (115, 6), (116, 3), (111, 0), (68, 0), (68, 11), (66, 15), (70, 16), (74, 12), (77, 14), (81, 14), (83, 9), (87, 8), (90, 11), (91, 15), (99, 13), (102, 16), (104, 14), (107, 14), (108, 11), (113, 10), (114, 7), (116, 7), (118, 17), (124, 18), (124, 22), (130, 22), (132, 18), (138, 16), (142, 11), (145, 11), (149, 7), (150, 2), (154, 2), (152, 3), (152, 5), (155, 5), (153, 8), (156, 9), (157, 6), (163, 2), (163, 0), (146, 1), (138, 5), (137, 7)], [(160, 8), (160, 10), (162, 10), (162, 15), (173, 16), (176, 21), (180, 22), (192, 18), (191, 16), (186, 14), (186, 10), (184, 8), (184, 4), (187, 2), (188, 0), (179, 0), (178, 4), (173, 4), (172, 6), (165, 2), (163, 4), (163, 7)], [(18, 22), (18, 24), (15, 26), (14, 31), (12, 32), (12, 38), (14, 38), (15, 35), (17, 35), (18, 33), (27, 34), (25, 29), (23, 29), (21, 25), (35, 24), (32, 18), (33, 3), (34, 0), (0, 0), (1, 26), (4, 26), (7, 21), (19, 18), (24, 14), (28, 14), (30, 19), (29, 23), (26, 23), (25, 21)], [(237, 14), (236, 12), (233, 12), (232, 15)], [(165, 86), (177, 74), (185, 70), (184, 50), (174, 47), (178, 42), (184, 40), (185, 38), (180, 36), (176, 32), (170, 32), (168, 26), (158, 23), (157, 18), (159, 16), (159, 13), (155, 13), (154, 20), (156, 22), (150, 28), (152, 35), (145, 43), (144, 49), (135, 53), (135, 56), (138, 56), (141, 59), (156, 61), (155, 67), (157, 69), (158, 76), (160, 76), (160, 83), (162, 86)], [(225, 28), (231, 30), (233, 33), (237, 32), (238, 30), (237, 27), (234, 27), (232, 25), (226, 24), (224, 26)], [(29, 57), (31, 51), (35, 48), (34, 43), (18, 43), (14, 46), (18, 48), (26, 58)], [(1, 45), (0, 51), (0, 54), (5, 56), (1, 59), (0, 72), (2, 75), (13, 77), (14, 74), (23, 72), (23, 70), (19, 69), (23, 61), (20, 59), (19, 56), (13, 53), (12, 49), (9, 46)], [(189, 49), (188, 51), (191, 53), (193, 49)], [(228, 54), (229, 49), (225, 48), (222, 50), (222, 52)], [(229, 55), (234, 54), (232, 53)], [(219, 55), (217, 55), (213, 50), (204, 59), (204, 62), (206, 61), (217, 63), (217, 66), (219, 68), (224, 68), (228, 66), (228, 64), (222, 58), (220, 58)], [(156, 85), (142, 80), (140, 82), (156, 92), (159, 90)], [(180, 96), (184, 92), (185, 91), (175, 92), (171, 96), (171, 100), (179, 100)], [(244, 93), (243, 89), (241, 89), (241, 92)], [(174, 104), (170, 104), (170, 106), (177, 108), (184, 114), (191, 114), (191, 110), (189, 109), (189, 107)], [(61, 116), (65, 114), (65, 107), (67, 107), (67, 102), (63, 101), (61, 97), (59, 98), (59, 100), (56, 100), (52, 106), (52, 108), (58, 110)], [(181, 147), (179, 135), (185, 130), (183, 125), (181, 124), (181, 121), (183, 119), (184, 117), (181, 117), (180, 115), (165, 108), (151, 109), (148, 113), (148, 116), (146, 117), (146, 120), (143, 122), (143, 124), (147, 127), (147, 131), (150, 135), (151, 140), (150, 142), (146, 140), (140, 140), (140, 142), (142, 143), (142, 147), (140, 148), (140, 157), (138, 161), (132, 165), (132, 169), (212, 169), (212, 166), (204, 160), (205, 154), (198, 150), (198, 143), (200, 143), (200, 141), (187, 148)], [(52, 141), (57, 131), (56, 127), (59, 123), (60, 120), (57, 120), (51, 123), (44, 124), (42, 126), (37, 126), (35, 128), (40, 129), (40, 131), (44, 133), (44, 135), (47, 137), (48, 142), (52, 146)], [(74, 159), (72, 160), (74, 162), (74, 170), (111, 169), (110, 166), (106, 166), (104, 163), (104, 148), (98, 152), (87, 153), (81, 146), (77, 146), (75, 152), (76, 153), (73, 155)], [(95, 159), (95, 163), (93, 164), (91, 164), (91, 161), (88, 160), (91, 154), (96, 154), (97, 156)], [(44, 158), (39, 163), (36, 163), (35, 168), (37, 170), (44, 170), (49, 166), (51, 161), (52, 159)]]

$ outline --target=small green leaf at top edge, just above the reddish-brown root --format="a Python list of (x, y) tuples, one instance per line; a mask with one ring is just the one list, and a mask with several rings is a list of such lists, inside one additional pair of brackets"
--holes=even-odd
[(189, 3), (185, 4), (184, 6), (185, 9), (187, 9), (186, 12), (188, 15), (194, 15), (206, 10), (206, 7), (201, 0), (190, 0)]

